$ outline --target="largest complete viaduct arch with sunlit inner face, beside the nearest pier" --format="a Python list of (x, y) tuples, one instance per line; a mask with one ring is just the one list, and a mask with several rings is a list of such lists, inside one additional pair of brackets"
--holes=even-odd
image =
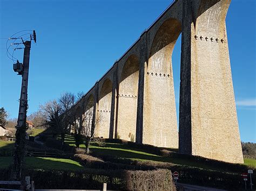
[(145, 71), (143, 143), (178, 148), (178, 129), (172, 51), (181, 33), (179, 20), (170, 18), (159, 27)]

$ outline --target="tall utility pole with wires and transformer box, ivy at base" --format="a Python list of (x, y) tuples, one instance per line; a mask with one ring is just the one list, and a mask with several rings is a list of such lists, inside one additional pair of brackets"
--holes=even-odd
[[(25, 157), (26, 147), (26, 110), (28, 109), (28, 80), (29, 80), (29, 58), (31, 48), (32, 36), (29, 41), (23, 41), (25, 46), (23, 55), (23, 64), (14, 64), (14, 71), (18, 72), (18, 75), (22, 75), (22, 86), (21, 86), (21, 98), (19, 99), (19, 114), (16, 126), (16, 140), (14, 147), (14, 166), (13, 166), (13, 179), (21, 179), (22, 164)], [(33, 40), (36, 43), (36, 32), (33, 31)]]

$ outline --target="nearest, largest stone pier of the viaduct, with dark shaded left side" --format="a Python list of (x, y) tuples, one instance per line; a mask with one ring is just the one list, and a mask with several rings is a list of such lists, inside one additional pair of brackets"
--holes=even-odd
[(183, 21), (179, 150), (242, 163), (225, 25), (229, 4), (184, 2), (190, 16)]

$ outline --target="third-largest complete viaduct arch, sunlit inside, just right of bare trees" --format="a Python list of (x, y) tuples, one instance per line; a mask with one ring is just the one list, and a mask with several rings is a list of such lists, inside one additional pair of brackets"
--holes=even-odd
[(96, 137), (109, 138), (111, 100), (112, 81), (106, 79), (99, 94), (97, 117), (100, 118), (100, 122), (96, 126)]

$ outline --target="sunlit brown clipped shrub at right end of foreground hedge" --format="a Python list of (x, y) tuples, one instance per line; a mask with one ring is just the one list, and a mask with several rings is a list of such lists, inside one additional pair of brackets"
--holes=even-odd
[(171, 171), (126, 171), (126, 189), (128, 190), (176, 190)]

